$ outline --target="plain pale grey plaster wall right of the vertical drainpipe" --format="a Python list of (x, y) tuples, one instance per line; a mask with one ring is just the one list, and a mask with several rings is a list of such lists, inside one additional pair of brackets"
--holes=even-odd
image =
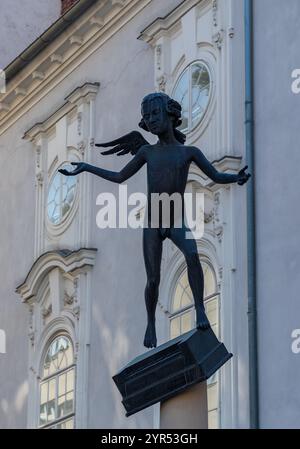
[(300, 328), (299, 68), (300, 3), (255, 0), (255, 129), (260, 419), (299, 428)]

